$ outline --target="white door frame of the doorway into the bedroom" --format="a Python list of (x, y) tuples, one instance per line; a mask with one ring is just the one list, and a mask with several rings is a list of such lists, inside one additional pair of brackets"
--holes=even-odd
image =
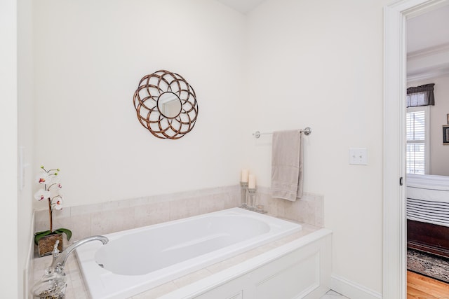
[(406, 20), (449, 0), (401, 0), (384, 7), (383, 298), (405, 299), (406, 272)]

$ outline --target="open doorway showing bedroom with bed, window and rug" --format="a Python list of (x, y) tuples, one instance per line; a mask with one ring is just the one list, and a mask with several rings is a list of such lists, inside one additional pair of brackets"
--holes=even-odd
[(449, 125), (449, 5), (408, 18), (406, 29), (408, 293), (430, 296), (438, 281), (449, 290), (449, 146), (441, 136)]

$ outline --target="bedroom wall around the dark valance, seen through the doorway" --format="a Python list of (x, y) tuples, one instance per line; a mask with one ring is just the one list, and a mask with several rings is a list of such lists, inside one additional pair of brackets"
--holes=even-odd
[(435, 106), (430, 106), (430, 174), (449, 176), (449, 145), (443, 145), (443, 125), (448, 125), (449, 77), (412, 81), (410, 86), (435, 83)]

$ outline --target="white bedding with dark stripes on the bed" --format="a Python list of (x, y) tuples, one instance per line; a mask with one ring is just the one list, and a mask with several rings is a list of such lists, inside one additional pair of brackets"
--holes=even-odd
[(407, 218), (449, 226), (449, 176), (408, 174)]

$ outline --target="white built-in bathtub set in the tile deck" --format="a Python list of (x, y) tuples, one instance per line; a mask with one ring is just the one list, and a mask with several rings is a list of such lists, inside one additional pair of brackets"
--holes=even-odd
[(76, 254), (93, 299), (123, 299), (300, 230), (233, 208), (115, 232), (108, 244), (84, 244)]

